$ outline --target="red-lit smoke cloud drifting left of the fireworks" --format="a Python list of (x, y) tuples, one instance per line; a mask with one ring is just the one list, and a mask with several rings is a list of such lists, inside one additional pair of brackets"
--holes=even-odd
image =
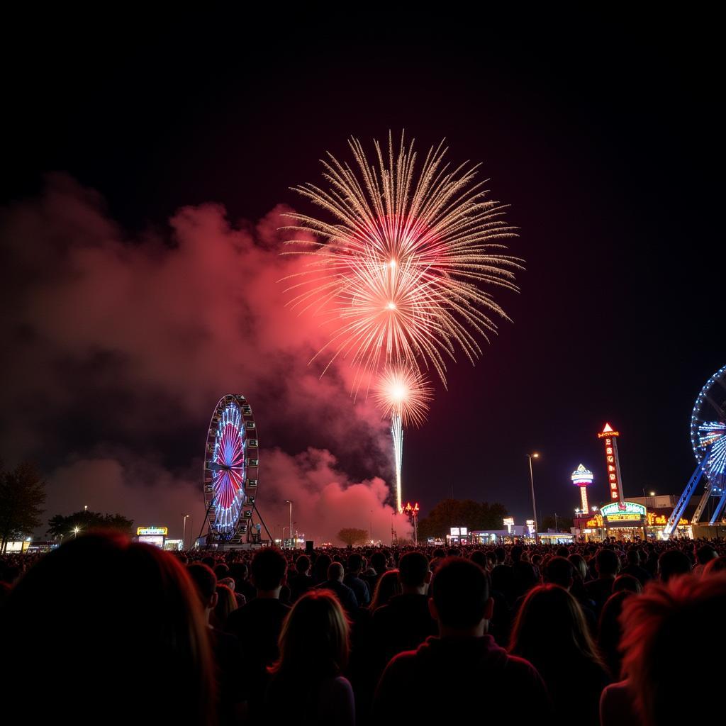
[(38, 462), (48, 517), (88, 505), (179, 536), (191, 513), (199, 531), (208, 420), (244, 393), (273, 534), (284, 499), (318, 542), (345, 526), (406, 533), (386, 505), (385, 423), (352, 401), (346, 364), (319, 378), (308, 362), (327, 331), (285, 307), (278, 281), (304, 264), (279, 254), (285, 211), (232, 224), (220, 205), (184, 207), (168, 229), (129, 234), (61, 174), (0, 211), (0, 454)]

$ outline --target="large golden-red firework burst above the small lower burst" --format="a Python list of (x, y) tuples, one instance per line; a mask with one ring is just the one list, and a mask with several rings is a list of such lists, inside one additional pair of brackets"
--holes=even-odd
[(356, 380), (390, 364), (423, 364), (446, 386), (445, 359), (460, 348), (473, 362), (481, 354), (476, 335), (489, 340), (497, 330), (489, 315), (508, 319), (480, 285), (518, 290), (513, 270), (521, 260), (497, 251), (515, 228), (502, 219), (503, 205), (486, 200), (485, 181), (473, 184), (479, 165), (449, 170), (443, 143), (417, 172), (403, 134), (396, 154), (389, 134), (387, 159), (375, 142), (377, 164), (351, 138), (357, 172), (328, 154), (330, 189), (294, 187), (335, 220), (290, 213), (298, 224), (285, 227), (313, 238), (288, 242), (311, 256), (309, 268), (291, 276), (288, 304), (333, 322), (314, 356), (330, 353), (325, 370), (339, 356), (361, 372)]

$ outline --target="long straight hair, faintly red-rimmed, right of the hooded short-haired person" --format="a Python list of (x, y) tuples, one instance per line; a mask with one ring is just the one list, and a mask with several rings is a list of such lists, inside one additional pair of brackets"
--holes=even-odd
[(539, 585), (519, 608), (509, 650), (540, 670), (562, 666), (574, 659), (601, 664), (592, 644), (582, 608), (563, 587)]

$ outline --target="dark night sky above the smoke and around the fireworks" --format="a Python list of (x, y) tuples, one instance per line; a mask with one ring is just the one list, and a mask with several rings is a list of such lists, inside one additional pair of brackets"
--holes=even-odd
[[(446, 136), (450, 158), (483, 162), (494, 198), (511, 205), (521, 236), (510, 250), (527, 269), (521, 294), (497, 293), (513, 325), (476, 367), (452, 368), (428, 424), (407, 432), (404, 498), (425, 510), (453, 487), (529, 516), (525, 454), (536, 450), (539, 510), (569, 514), (580, 462), (595, 472), (592, 500), (605, 497), (605, 421), (621, 432), (626, 495), (680, 493), (695, 465), (693, 400), (726, 363), (722, 65), (707, 23), (321, 25), (225, 12), (17, 18), (2, 51), (4, 205), (38, 197), (44, 175), (62, 171), (97, 190), (129, 237), (163, 234), (184, 205), (256, 221), (280, 203), (304, 208), (289, 187), (320, 180), (325, 150), (347, 158), (351, 134), (369, 149), (388, 129), (419, 150)], [(65, 415), (82, 421), (88, 406)], [(39, 439), (57, 440), (57, 421), (46, 426)], [(113, 439), (97, 431), (76, 454)], [(200, 455), (194, 421), (171, 433), (144, 446), (162, 460)], [(116, 443), (133, 452), (132, 438)], [(271, 430), (266, 443), (298, 452), (305, 438)], [(324, 428), (313, 439), (337, 446)], [(388, 476), (334, 453), (351, 476)], [(36, 457), (53, 468), (62, 451)]]

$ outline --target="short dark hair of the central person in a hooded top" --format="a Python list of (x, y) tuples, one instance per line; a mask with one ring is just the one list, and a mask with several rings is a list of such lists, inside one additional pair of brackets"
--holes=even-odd
[(489, 577), (470, 560), (446, 558), (433, 576), (431, 597), (441, 624), (452, 628), (475, 627), (484, 618)]

